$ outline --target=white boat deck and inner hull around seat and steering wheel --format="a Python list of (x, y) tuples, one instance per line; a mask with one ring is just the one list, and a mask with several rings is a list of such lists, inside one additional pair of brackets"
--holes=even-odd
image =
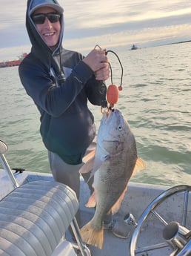
[[(34, 172), (24, 171), (22, 174), (16, 174), (16, 179), (19, 184), (23, 182), (30, 182), (32, 180), (53, 180), (51, 174), (38, 174)], [(10, 185), (7, 175), (3, 170), (0, 170), (0, 199), (8, 194), (13, 187)], [(118, 212), (118, 216), (124, 217), (127, 213), (132, 213), (135, 217), (135, 220), (138, 221), (144, 209), (147, 205), (152, 202), (155, 197), (161, 194), (162, 191), (167, 190), (168, 187), (165, 186), (154, 186), (149, 184), (140, 184), (140, 183), (130, 183), (128, 186), (127, 194), (121, 204), (121, 209)], [(84, 204), (86, 203), (89, 197), (89, 191), (87, 184), (81, 180), (81, 197), (80, 197), (80, 209), (81, 209), (81, 221), (82, 225), (87, 223), (88, 220), (93, 216), (93, 209), (87, 209)], [(158, 206), (157, 211), (159, 214), (169, 223), (170, 221), (178, 221), (181, 223), (181, 214), (183, 209), (184, 199), (181, 196), (173, 196), (170, 200), (167, 200), (161, 203), (161, 206)], [(188, 204), (188, 227), (191, 229), (191, 201)], [(138, 240), (138, 245), (148, 246), (155, 243), (163, 243), (164, 238), (162, 237), (162, 230), (164, 224), (162, 224), (157, 218), (153, 215), (148, 218), (148, 222), (141, 229), (140, 239)], [(135, 227), (130, 226), (130, 232), (134, 231)], [(70, 234), (67, 233), (67, 240), (70, 240)], [(103, 249), (98, 249), (94, 246), (89, 246), (91, 255), (93, 256), (128, 256), (130, 246), (130, 238), (124, 240), (118, 237), (115, 237), (112, 232), (104, 231), (104, 245)], [(160, 250), (155, 250), (153, 252), (144, 252), (137, 255), (141, 256), (166, 256), (170, 255), (172, 250), (170, 248), (164, 248)]]

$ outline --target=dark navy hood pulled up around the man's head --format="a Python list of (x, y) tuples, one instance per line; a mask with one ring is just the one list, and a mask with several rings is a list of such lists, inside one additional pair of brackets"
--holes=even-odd
[[(49, 47), (41, 35), (36, 30), (36, 24), (34, 24), (31, 14), (37, 10), (39, 7), (52, 7), (60, 14), (61, 23), (61, 33), (58, 40), (58, 44), (55, 47)], [(54, 62), (53, 56), (60, 53), (61, 43), (64, 33), (64, 9), (58, 4), (57, 0), (27, 0), (27, 12), (26, 12), (26, 27), (27, 33), (30, 37), (30, 42), (32, 44), (32, 52), (41, 59), (45, 64), (48, 62)], [(54, 66), (54, 65), (53, 65)]]

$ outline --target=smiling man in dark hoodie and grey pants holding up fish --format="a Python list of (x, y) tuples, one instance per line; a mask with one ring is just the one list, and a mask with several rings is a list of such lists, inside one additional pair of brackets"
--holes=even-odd
[(19, 66), (19, 76), (41, 114), (40, 132), (53, 177), (73, 188), (79, 198), (78, 170), (96, 135), (87, 101), (104, 101), (103, 80), (110, 67), (104, 50), (93, 49), (83, 57), (62, 47), (63, 12), (56, 0), (27, 1), (32, 49)]

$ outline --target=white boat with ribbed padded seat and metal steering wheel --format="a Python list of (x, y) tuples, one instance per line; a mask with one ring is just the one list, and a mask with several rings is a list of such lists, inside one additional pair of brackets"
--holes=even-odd
[[(7, 149), (0, 140), (0, 255), (191, 255), (191, 186), (130, 182), (118, 211), (129, 226), (130, 237), (120, 239), (104, 230), (103, 248), (98, 249), (81, 240), (75, 218), (78, 208), (82, 225), (94, 213), (84, 206), (89, 197), (84, 180), (78, 204), (74, 191), (54, 181), (52, 174), (11, 169)], [(69, 225), (76, 243), (67, 230)]]

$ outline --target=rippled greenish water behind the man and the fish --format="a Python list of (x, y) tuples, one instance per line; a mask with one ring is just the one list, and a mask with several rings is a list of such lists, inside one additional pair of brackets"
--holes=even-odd
[[(110, 50), (110, 49), (107, 49)], [(191, 184), (191, 43), (117, 51), (124, 68), (116, 108), (130, 124), (146, 168), (132, 181), (167, 186)], [(108, 53), (113, 83), (118, 59)], [(50, 172), (39, 134), (39, 114), (21, 85), (18, 67), (1, 68), (0, 140), (12, 168)], [(110, 85), (110, 79), (107, 85)], [(99, 107), (90, 105), (98, 128)], [(1, 167), (0, 167), (1, 168)]]

